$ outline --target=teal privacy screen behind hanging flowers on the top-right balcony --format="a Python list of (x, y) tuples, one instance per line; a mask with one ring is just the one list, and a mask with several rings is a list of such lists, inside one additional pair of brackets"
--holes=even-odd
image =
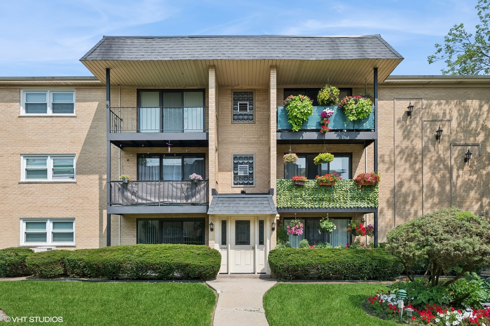
[[(347, 121), (345, 114), (339, 107), (313, 107), (313, 116), (309, 117), (307, 121), (301, 126), (301, 130), (314, 130), (320, 129), (320, 113), (323, 109), (331, 109), (334, 114), (330, 118), (330, 129), (340, 130), (372, 130), (374, 129), (374, 107), (367, 119), (360, 119), (355, 121)], [(277, 107), (277, 129), (279, 130), (291, 130), (293, 126), (288, 122), (288, 112), (284, 107)]]

